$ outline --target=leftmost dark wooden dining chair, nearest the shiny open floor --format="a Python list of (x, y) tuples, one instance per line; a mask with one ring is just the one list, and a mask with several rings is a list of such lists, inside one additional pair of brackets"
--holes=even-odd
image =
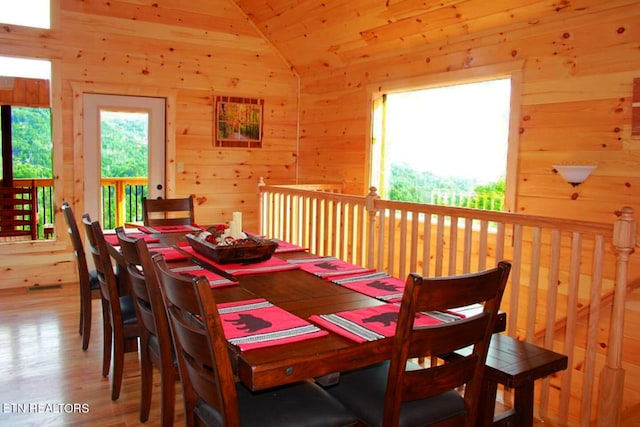
[(67, 223), (67, 232), (76, 257), (80, 285), (80, 322), (78, 331), (82, 336), (82, 349), (87, 350), (89, 348), (89, 339), (91, 338), (91, 300), (100, 298), (100, 284), (98, 283), (96, 270), (89, 270), (78, 223), (73, 214), (73, 209), (66, 201), (62, 203), (62, 213)]

